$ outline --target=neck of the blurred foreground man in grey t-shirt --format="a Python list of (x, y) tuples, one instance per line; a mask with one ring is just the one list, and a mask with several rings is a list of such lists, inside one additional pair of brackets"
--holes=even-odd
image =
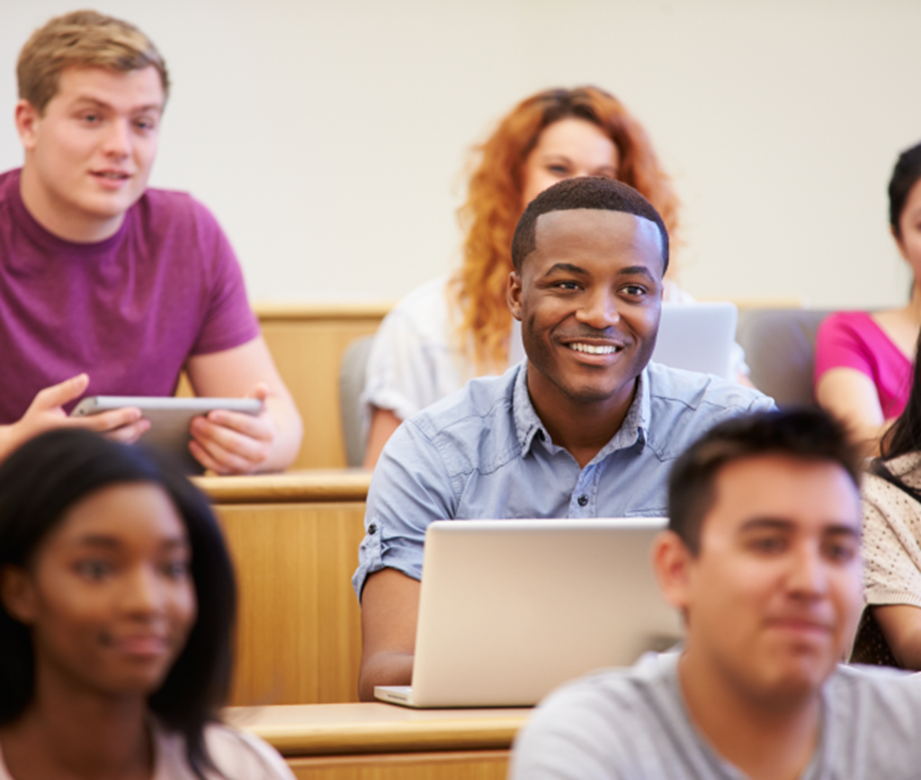
[(678, 679), (696, 727), (752, 780), (795, 780), (809, 766), (819, 740), (820, 693), (782, 704), (746, 698), (690, 650), (679, 661)]

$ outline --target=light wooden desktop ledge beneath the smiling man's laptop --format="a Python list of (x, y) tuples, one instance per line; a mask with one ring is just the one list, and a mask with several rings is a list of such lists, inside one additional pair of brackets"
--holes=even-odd
[(530, 708), (414, 710), (396, 704), (229, 707), (227, 722), (285, 756), (502, 750)]

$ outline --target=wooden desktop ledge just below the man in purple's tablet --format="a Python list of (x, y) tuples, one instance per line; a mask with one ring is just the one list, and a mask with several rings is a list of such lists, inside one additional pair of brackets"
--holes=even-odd
[(364, 469), (301, 469), (245, 477), (192, 477), (214, 504), (364, 501), (371, 472)]

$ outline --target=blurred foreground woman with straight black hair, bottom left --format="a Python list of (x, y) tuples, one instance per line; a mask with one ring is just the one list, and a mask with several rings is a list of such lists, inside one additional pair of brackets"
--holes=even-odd
[(0, 780), (292, 778), (219, 724), (236, 608), (210, 508), (82, 430), (0, 466)]

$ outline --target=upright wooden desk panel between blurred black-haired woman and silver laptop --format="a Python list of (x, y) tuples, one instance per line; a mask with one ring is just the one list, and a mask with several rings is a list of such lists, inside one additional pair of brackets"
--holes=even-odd
[(230, 703), (356, 701), (364, 502), (215, 508), (239, 582)]

